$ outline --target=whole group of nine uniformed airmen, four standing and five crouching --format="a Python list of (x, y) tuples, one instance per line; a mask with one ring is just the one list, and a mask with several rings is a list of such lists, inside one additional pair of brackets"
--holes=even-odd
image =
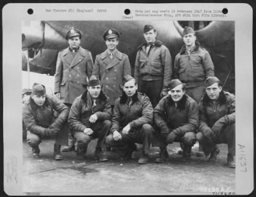
[[(168, 160), (166, 147), (173, 142), (180, 142), (182, 158), (188, 161), (197, 140), (209, 161), (220, 154), (218, 144), (227, 143), (227, 164), (236, 168), (235, 96), (222, 90), (195, 31), (184, 28), (185, 45), (174, 65), (168, 48), (156, 40), (154, 27), (145, 25), (143, 35), (146, 42), (138, 47), (131, 73), (129, 57), (116, 48), (118, 31), (105, 31), (107, 49), (94, 64), (90, 51), (80, 46), (81, 32), (68, 31), (69, 47), (59, 52), (56, 63), (55, 96), (35, 83), (22, 110), (32, 157), (40, 157), (42, 138), (52, 136), (56, 160), (63, 159), (61, 145), (63, 152), (76, 150), (77, 159), (84, 159), (88, 143), (97, 138), (99, 161), (108, 161), (109, 147), (122, 159), (131, 159), (139, 143), (138, 163), (147, 164), (153, 141), (160, 149), (156, 163)], [(57, 139), (65, 127), (68, 144), (61, 144)]]

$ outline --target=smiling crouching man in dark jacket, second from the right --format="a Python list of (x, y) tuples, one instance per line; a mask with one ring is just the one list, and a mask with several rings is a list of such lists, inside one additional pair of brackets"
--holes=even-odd
[(163, 163), (168, 159), (166, 146), (168, 143), (184, 143), (183, 159), (188, 160), (191, 147), (196, 142), (196, 128), (198, 127), (198, 105), (194, 99), (184, 92), (184, 84), (179, 79), (170, 82), (169, 92), (154, 108), (154, 122), (160, 130), (160, 155), (156, 163)]

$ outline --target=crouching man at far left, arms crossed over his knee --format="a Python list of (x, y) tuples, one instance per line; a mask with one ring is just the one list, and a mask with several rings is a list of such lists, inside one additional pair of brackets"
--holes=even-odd
[[(59, 115), (55, 119), (54, 111)], [(42, 84), (33, 84), (30, 99), (24, 103), (22, 119), (27, 129), (27, 142), (32, 147), (32, 157), (40, 157), (38, 145), (44, 137), (54, 137), (54, 159), (61, 160), (61, 144), (57, 142), (61, 137), (65, 122), (68, 118), (68, 107), (55, 97), (47, 96)]]

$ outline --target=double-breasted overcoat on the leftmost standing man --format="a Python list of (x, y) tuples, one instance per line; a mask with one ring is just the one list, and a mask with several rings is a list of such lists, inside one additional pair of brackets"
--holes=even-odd
[(82, 47), (79, 47), (75, 57), (69, 48), (59, 52), (54, 92), (60, 92), (63, 103), (72, 104), (77, 96), (86, 91), (87, 77), (91, 77), (92, 68), (92, 54)]

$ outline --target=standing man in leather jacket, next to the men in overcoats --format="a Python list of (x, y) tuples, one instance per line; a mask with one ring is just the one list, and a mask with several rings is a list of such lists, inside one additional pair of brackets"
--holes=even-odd
[(143, 28), (146, 43), (138, 47), (134, 66), (134, 78), (138, 91), (147, 94), (153, 107), (167, 94), (168, 83), (172, 79), (172, 56), (163, 43), (156, 40), (154, 27)]

